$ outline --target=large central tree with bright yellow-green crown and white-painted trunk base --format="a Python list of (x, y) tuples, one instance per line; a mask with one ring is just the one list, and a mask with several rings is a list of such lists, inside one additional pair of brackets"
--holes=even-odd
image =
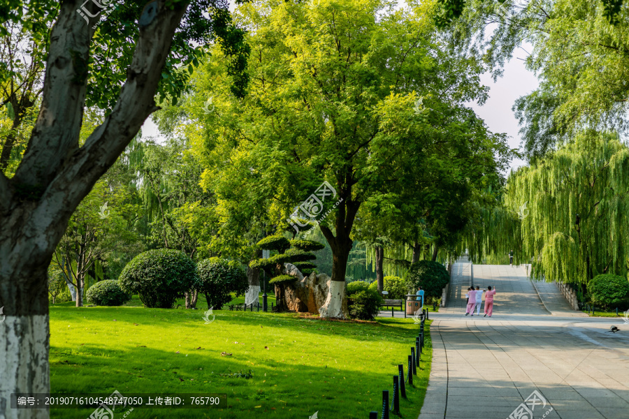
[[(487, 170), (486, 160), (493, 162), (500, 148), (482, 122), (470, 123), (473, 113), (462, 106), (484, 98), (476, 77), (482, 63), (436, 47), (430, 8), (414, 14), (390, 6), (376, 0), (322, 0), (316, 8), (283, 1), (243, 5), (240, 22), (256, 29), (248, 38), (256, 57), (250, 61), (250, 94), (242, 101), (229, 94), (219, 53), (205, 67), (212, 82), (197, 94), (196, 115), (223, 127), (196, 134), (198, 152), (222, 150), (208, 162), (210, 170), (216, 172), (217, 161), (240, 168), (251, 190), (273, 200), (266, 208), (275, 223), (322, 181), (337, 192), (324, 202), (322, 212), (333, 212), (319, 224), (333, 251), (333, 298), (323, 316), (342, 316), (352, 229), (366, 200), (403, 182), (416, 184), (413, 175), (421, 168), (412, 166), (429, 158), (431, 141), (447, 144), (449, 135), (456, 134), (454, 126), (462, 133), (461, 143), (446, 147), (443, 159), (456, 157), (457, 148), (484, 147), (477, 160), (482, 164), (461, 164), (456, 176)], [(203, 116), (201, 104), (210, 97), (215, 110)], [(418, 103), (420, 97), (424, 105)], [(431, 117), (441, 114), (433, 124)], [(442, 124), (451, 124), (451, 132), (439, 138)], [(400, 132), (400, 126), (405, 130)], [(472, 128), (463, 134), (466, 126)]]

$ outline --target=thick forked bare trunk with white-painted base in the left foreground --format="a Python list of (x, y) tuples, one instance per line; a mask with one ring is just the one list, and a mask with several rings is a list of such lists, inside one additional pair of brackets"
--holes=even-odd
[[(43, 101), (15, 175), (0, 172), (0, 418), (47, 419), (48, 409), (11, 409), (11, 393), (50, 392), (47, 270), (68, 220), (158, 108), (154, 95), (188, 3), (157, 0), (139, 19), (133, 59), (117, 103), (80, 146), (85, 73), (95, 29), (60, 3), (49, 38)], [(86, 3), (93, 15), (100, 11)], [(79, 293), (78, 293), (79, 294)], [(78, 298), (78, 295), (77, 295)]]

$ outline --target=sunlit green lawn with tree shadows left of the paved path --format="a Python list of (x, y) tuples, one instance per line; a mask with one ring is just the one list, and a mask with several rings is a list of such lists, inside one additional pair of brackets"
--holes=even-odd
[[(50, 308), (52, 392), (227, 395), (226, 409), (135, 409), (129, 419), (308, 418), (315, 411), (321, 419), (367, 418), (382, 406), (382, 390), (392, 390), (397, 365), (406, 370), (419, 331), (411, 318), (356, 323), (262, 311), (215, 311), (205, 324), (205, 302), (194, 311), (133, 304)], [(417, 417), (424, 400), (429, 337), (426, 344), (401, 403), (405, 418)], [(250, 371), (250, 379), (220, 375)], [(51, 416), (85, 419), (92, 411), (52, 409)]]

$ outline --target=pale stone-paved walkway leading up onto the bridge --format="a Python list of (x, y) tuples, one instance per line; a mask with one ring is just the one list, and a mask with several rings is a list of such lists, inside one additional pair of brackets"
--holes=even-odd
[[(561, 300), (544, 288), (551, 315), (526, 270), (508, 265), (473, 267), (474, 284), (497, 293), (491, 318), (470, 318), (471, 270), (453, 266), (451, 304), (431, 314), (433, 369), (419, 419), (629, 418), (629, 325), (561, 316)], [(608, 333), (611, 325), (621, 332)], [(532, 417), (511, 416), (531, 405)]]

